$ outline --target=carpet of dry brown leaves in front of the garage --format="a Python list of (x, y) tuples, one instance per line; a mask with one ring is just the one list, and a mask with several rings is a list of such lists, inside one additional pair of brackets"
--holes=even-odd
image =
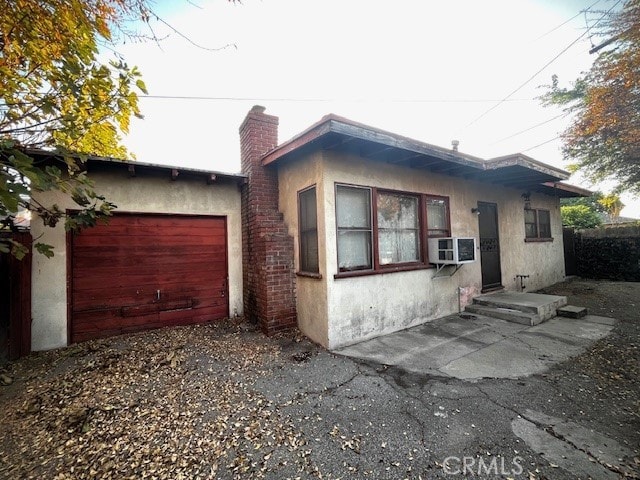
[(201, 325), (17, 362), (20, 385), (0, 396), (0, 476), (261, 478), (280, 468), (321, 476), (306, 440), (251, 388), (279, 354), (259, 334)]

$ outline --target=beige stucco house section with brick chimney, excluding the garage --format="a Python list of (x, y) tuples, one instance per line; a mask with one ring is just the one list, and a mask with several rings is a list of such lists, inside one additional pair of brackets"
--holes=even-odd
[[(564, 279), (559, 198), (589, 193), (568, 173), (334, 115), (277, 145), (277, 124), (254, 107), (241, 127), (245, 314), (266, 331), (297, 322), (336, 348), (518, 290), (518, 275), (531, 289)], [(478, 261), (442, 275), (428, 240), (443, 237), (477, 239)]]

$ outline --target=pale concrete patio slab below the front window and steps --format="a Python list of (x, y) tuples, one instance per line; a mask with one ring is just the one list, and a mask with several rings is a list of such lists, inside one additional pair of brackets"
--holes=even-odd
[(451, 315), (334, 353), (426, 375), (519, 378), (578, 355), (608, 335), (615, 323), (587, 315), (555, 317), (529, 327), (481, 315)]

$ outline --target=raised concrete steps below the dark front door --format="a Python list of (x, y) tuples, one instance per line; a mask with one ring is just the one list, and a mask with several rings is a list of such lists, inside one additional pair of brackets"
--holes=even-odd
[(535, 315), (544, 322), (556, 316), (556, 310), (567, 304), (567, 297), (539, 293), (498, 292), (475, 297), (473, 303)]

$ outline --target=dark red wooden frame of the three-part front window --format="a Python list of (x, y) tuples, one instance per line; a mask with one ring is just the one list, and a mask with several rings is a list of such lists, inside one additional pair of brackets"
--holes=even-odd
[[(368, 269), (359, 269), (359, 270), (344, 270), (340, 268), (338, 263), (338, 187), (347, 187), (347, 188), (364, 188), (368, 189), (370, 192), (370, 214), (371, 214), (371, 241), (372, 241), (372, 267)], [(395, 194), (402, 196), (411, 196), (415, 197), (418, 200), (418, 238), (419, 238), (419, 259), (417, 261), (412, 262), (401, 262), (401, 263), (389, 263), (389, 264), (380, 264), (380, 252), (379, 252), (379, 227), (378, 227), (378, 194)], [(364, 185), (355, 185), (343, 182), (335, 182), (334, 184), (334, 195), (335, 195), (335, 226), (336, 226), (336, 266), (337, 273), (334, 274), (334, 278), (345, 278), (345, 277), (358, 277), (365, 275), (379, 275), (384, 273), (391, 272), (402, 272), (409, 270), (421, 270), (421, 269), (430, 269), (434, 268), (433, 265), (429, 263), (429, 252), (427, 250), (427, 244), (429, 238), (435, 238), (435, 236), (430, 237), (428, 234), (428, 222), (427, 222), (427, 200), (428, 199), (437, 199), (443, 200), (445, 202), (446, 208), (446, 226), (447, 232), (446, 235), (438, 235), (438, 237), (449, 237), (451, 236), (451, 209), (450, 209), (450, 201), (448, 196), (444, 195), (433, 195), (427, 193), (419, 193), (419, 192), (410, 192), (406, 190), (395, 190), (389, 188), (378, 188)]]

